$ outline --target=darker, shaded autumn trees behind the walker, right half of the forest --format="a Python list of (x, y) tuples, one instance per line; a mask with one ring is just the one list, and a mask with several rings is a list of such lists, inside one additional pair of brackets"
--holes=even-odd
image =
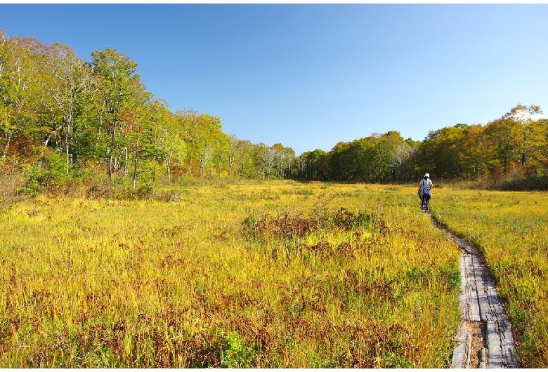
[[(426, 172), (438, 179), (476, 180), (495, 187), (548, 188), (548, 120), (537, 105), (513, 107), (482, 124), (430, 131), (423, 141), (390, 131), (339, 142), (330, 152), (301, 154), (301, 177), (314, 180), (405, 182)], [(502, 181), (502, 182), (501, 182)]]

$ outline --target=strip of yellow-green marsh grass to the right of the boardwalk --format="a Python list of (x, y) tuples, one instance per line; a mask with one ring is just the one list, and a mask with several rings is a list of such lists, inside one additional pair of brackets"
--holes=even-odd
[(485, 253), (523, 368), (548, 367), (548, 194), (436, 192), (432, 213)]

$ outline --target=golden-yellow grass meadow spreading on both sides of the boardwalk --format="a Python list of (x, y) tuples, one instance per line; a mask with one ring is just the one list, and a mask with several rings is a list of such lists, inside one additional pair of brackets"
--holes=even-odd
[[(468, 205), (490, 195), (495, 204), (533, 203), (434, 190), (432, 213), (485, 247), (488, 260), (501, 253), (487, 247), (500, 243), (467, 230), (479, 226), (479, 213), (474, 223), (459, 213), (474, 215)], [(269, 182), (163, 192), (178, 197), (41, 196), (1, 213), (0, 367), (449, 366), (459, 250), (419, 211), (415, 186)], [(545, 194), (535, 198), (537, 212), (546, 211)], [(494, 217), (501, 210), (492, 218), (502, 226), (509, 217)], [(537, 215), (511, 232), (526, 237), (540, 223), (545, 233), (546, 216)], [(520, 236), (521, 251), (502, 250), (523, 254), (526, 241), (545, 243), (541, 233)], [(497, 278), (539, 265), (530, 263), (545, 247), (519, 265), (493, 259)], [(500, 294), (514, 301), (526, 286), (537, 299), (546, 293), (540, 279), (508, 279)], [(545, 325), (545, 308), (510, 307), (510, 319), (528, 312)], [(546, 348), (545, 338), (535, 342)]]

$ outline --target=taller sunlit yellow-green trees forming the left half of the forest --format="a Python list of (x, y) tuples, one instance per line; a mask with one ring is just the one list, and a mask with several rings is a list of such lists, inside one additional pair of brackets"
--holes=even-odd
[(287, 177), (294, 151), (223, 133), (221, 119), (171, 112), (137, 62), (113, 48), (91, 61), (63, 44), (0, 30), (0, 161), (56, 182), (89, 168), (148, 182), (165, 176)]

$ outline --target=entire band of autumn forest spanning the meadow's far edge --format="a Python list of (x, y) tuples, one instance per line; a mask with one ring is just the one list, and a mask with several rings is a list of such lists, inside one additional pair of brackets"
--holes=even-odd
[[(172, 112), (113, 48), (91, 62), (62, 44), (0, 29), (0, 170), (24, 175), (27, 192), (86, 182), (133, 189), (189, 179), (333, 182), (469, 181), (482, 187), (548, 188), (548, 121), (537, 105), (516, 105), (488, 124), (457, 124), (422, 141), (374, 133), (329, 152), (296, 156), (223, 133), (221, 118)], [(90, 181), (91, 180), (91, 181)]]

